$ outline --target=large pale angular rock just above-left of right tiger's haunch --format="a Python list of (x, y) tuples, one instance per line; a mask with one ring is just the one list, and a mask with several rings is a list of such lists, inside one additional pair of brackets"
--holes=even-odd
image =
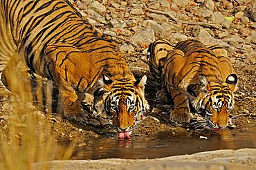
[(134, 37), (131, 38), (131, 41), (135, 44), (150, 44), (155, 41), (154, 30), (146, 28), (140, 32), (136, 32)]

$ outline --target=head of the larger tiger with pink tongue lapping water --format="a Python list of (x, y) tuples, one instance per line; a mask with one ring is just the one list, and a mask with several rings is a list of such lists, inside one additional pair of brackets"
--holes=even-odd
[(136, 122), (149, 109), (144, 89), (147, 77), (136, 81), (112, 80), (102, 75), (100, 88), (94, 93), (94, 108), (98, 115), (110, 120), (118, 131), (119, 138), (129, 138)]

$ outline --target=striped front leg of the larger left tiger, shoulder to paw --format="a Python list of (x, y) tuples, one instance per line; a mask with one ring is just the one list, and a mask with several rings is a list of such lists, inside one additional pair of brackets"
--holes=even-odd
[[(63, 116), (67, 120), (79, 122), (80, 124), (88, 123), (88, 113), (82, 109), (81, 105), (83, 96), (78, 96), (82, 92), (77, 89), (80, 77), (77, 78), (77, 73), (74, 73), (77, 70), (73, 64), (75, 57), (67, 57), (68, 51), (75, 49), (60, 48), (58, 46), (48, 46), (48, 48), (50, 52), (47, 53), (48, 50), (46, 49), (47, 55), (45, 56), (45, 68), (48, 75), (44, 76), (49, 77), (58, 86)], [(80, 82), (80, 84), (84, 87), (87, 85), (86, 82)]]

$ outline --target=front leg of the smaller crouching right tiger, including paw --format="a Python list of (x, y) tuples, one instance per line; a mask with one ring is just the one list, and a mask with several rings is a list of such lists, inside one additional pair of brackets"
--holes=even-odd
[(172, 122), (190, 122), (190, 106), (188, 97), (181, 91), (172, 90), (174, 111), (170, 113)]

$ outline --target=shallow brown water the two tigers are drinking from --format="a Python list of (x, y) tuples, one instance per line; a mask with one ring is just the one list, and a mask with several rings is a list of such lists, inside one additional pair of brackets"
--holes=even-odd
[(217, 149), (256, 148), (255, 131), (256, 124), (244, 131), (222, 130), (211, 135), (160, 132), (149, 138), (131, 136), (130, 140), (118, 140), (114, 137), (94, 138), (86, 141), (86, 145), (77, 147), (71, 159), (150, 159)]

